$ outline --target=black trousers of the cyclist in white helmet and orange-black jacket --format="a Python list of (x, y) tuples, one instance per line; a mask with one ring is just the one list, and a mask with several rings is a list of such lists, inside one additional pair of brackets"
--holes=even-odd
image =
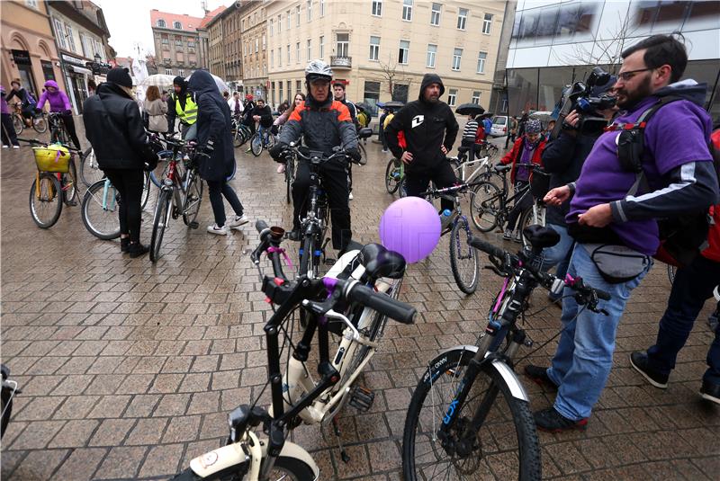
[[(330, 222), (332, 224), (332, 246), (343, 250), (347, 247), (353, 232), (350, 229), (350, 194), (347, 185), (347, 166), (333, 160), (320, 165), (322, 189), (328, 194)], [(293, 183), (293, 229), (300, 228), (300, 220), (308, 210), (307, 200), (311, 185), (311, 170), (307, 162), (300, 162)]]

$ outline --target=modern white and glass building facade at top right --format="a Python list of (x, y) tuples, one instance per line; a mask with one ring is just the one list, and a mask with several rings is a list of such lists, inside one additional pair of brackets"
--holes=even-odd
[(509, 113), (553, 111), (563, 85), (600, 66), (617, 72), (623, 49), (680, 31), (689, 50), (683, 78), (707, 82), (706, 107), (720, 120), (720, 2), (519, 0), (508, 57)]

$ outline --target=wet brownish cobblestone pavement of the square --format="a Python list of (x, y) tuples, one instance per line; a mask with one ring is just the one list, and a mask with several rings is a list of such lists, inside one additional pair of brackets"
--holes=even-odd
[[(370, 162), (355, 169), (351, 203), (356, 238), (364, 242), (377, 240), (379, 218), (393, 200), (383, 189), (388, 156), (376, 144), (367, 147)], [(85, 230), (78, 207), (63, 209), (49, 230), (35, 227), (27, 204), (31, 153), (23, 147), (2, 154), (0, 347), (23, 388), (3, 440), (2, 477), (164, 479), (219, 447), (229, 410), (257, 396), (266, 381), (261, 329), (269, 307), (247, 255), (257, 243), (254, 228), (227, 237), (205, 233), (212, 218), (206, 197), (200, 229), (177, 220), (157, 264), (130, 260), (116, 241), (99, 241)], [(289, 225), (283, 179), (266, 154), (238, 150), (233, 183), (250, 218)], [(143, 226), (148, 241), (149, 217)], [(321, 435), (317, 426), (294, 433), (322, 479), (401, 478), (402, 426), (419, 372), (439, 349), (474, 342), (498, 287), (498, 279), (482, 271), (478, 291), (461, 295), (446, 240), (428, 261), (410, 267), (401, 298), (420, 316), (416, 325), (387, 326), (382, 351), (365, 374), (365, 386), (376, 393), (371, 410), (348, 407), (341, 414), (351, 461), (340, 460), (328, 428)], [(717, 479), (720, 408), (698, 396), (711, 339), (709, 303), (667, 391), (648, 386), (628, 366), (629, 352), (653, 342), (669, 288), (659, 265), (635, 291), (588, 430), (540, 434), (545, 477)], [(545, 304), (545, 294), (536, 291), (533, 308)], [(559, 312), (549, 307), (528, 319), (536, 345), (557, 333)], [(527, 361), (547, 363), (552, 352), (554, 342), (519, 369)], [(526, 387), (534, 409), (552, 403), (552, 393)]]

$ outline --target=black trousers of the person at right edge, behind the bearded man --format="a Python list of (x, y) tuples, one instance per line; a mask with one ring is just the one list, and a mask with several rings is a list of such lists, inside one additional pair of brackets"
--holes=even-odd
[[(702, 255), (684, 269), (678, 269), (672, 283), (668, 307), (660, 320), (655, 345), (647, 350), (648, 367), (662, 374), (675, 368), (678, 352), (688, 340), (692, 325), (713, 289), (720, 282), (720, 263)], [(709, 366), (703, 380), (720, 385), (720, 326), (716, 326), (715, 340), (707, 352)]]

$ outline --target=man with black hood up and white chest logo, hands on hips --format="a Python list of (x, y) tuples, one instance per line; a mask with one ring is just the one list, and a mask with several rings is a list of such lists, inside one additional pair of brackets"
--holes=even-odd
[[(446, 102), (443, 81), (436, 74), (425, 74), (420, 85), (419, 100), (405, 105), (388, 124), (385, 138), (392, 155), (405, 163), (408, 195), (417, 196), (428, 190), (430, 181), (438, 188), (457, 182), (452, 166), (446, 161), (457, 136), (457, 120)], [(407, 147), (403, 151), (398, 133), (405, 132)], [(452, 200), (441, 200), (442, 209), (453, 209)], [(445, 216), (443, 216), (446, 219)], [(447, 217), (449, 220), (452, 216)], [(446, 226), (444, 226), (446, 227)]]

